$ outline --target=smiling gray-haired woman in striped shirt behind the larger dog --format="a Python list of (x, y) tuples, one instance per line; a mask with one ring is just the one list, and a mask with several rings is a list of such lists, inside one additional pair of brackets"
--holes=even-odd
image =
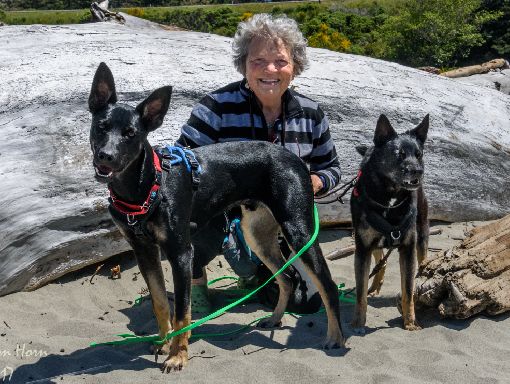
[[(243, 80), (200, 100), (177, 143), (195, 148), (225, 141), (271, 141), (309, 165), (315, 194), (335, 187), (341, 173), (328, 120), (316, 102), (289, 88), (308, 63), (306, 39), (297, 23), (286, 16), (254, 15), (239, 24), (233, 51), (234, 65)], [(238, 240), (231, 236), (225, 243), (227, 250), (236, 248)], [(206, 247), (197, 244), (195, 248)], [(254, 273), (256, 265), (242, 247), (237, 248), (241, 252), (234, 255), (234, 261), (227, 260), (234, 271), (250, 280), (247, 275)], [(296, 275), (295, 270), (290, 272)], [(197, 287), (207, 280), (202, 271), (194, 270), (193, 277), (193, 296), (197, 296)]]

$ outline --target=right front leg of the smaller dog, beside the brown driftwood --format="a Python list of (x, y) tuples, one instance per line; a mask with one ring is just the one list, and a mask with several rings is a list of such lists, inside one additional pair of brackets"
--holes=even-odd
[(402, 286), (402, 317), (404, 328), (416, 331), (421, 327), (416, 322), (414, 313), (414, 285), (416, 273), (416, 240), (412, 239), (399, 247), (400, 282)]

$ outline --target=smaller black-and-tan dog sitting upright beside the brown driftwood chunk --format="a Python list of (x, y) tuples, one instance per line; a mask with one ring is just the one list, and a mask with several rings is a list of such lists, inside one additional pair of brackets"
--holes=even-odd
[[(356, 187), (351, 196), (351, 214), (356, 242), (356, 308), (352, 325), (365, 332), (368, 278), (371, 255), (382, 259), (382, 248), (398, 248), (402, 285), (404, 328), (420, 329), (414, 314), (416, 260), (421, 263), (428, 248), (428, 205), (423, 192), (423, 145), (429, 116), (413, 130), (398, 135), (386, 116), (377, 121), (374, 146), (364, 154)], [(370, 289), (378, 292), (384, 269)]]

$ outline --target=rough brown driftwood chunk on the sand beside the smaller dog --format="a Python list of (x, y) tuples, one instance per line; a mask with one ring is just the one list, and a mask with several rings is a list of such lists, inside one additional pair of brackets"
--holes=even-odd
[(453, 249), (420, 266), (416, 303), (465, 319), (510, 310), (510, 215), (473, 229)]

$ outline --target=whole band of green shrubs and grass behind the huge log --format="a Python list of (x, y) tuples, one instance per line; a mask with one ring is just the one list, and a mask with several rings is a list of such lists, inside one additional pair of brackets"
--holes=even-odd
[[(453, 67), (510, 55), (510, 0), (322, 0), (321, 3), (242, 3), (231, 0), (110, 0), (110, 7), (184, 29), (232, 37), (256, 13), (294, 18), (312, 47), (406, 65)], [(81, 11), (6, 12), (8, 24), (90, 20), (91, 0), (3, 0), (13, 8)], [(152, 7), (145, 7), (152, 4)], [(193, 4), (218, 4), (207, 7)], [(159, 7), (171, 5), (179, 7)], [(186, 5), (186, 6), (183, 6)], [(119, 10), (118, 8), (116, 10)], [(0, 20), (3, 15), (0, 12)], [(468, 55), (471, 52), (471, 57)], [(486, 57), (487, 56), (487, 57)]]

